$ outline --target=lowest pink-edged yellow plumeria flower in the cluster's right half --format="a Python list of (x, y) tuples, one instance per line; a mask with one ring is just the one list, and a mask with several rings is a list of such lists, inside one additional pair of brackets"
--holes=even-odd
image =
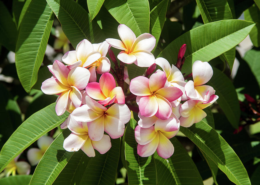
[(174, 137), (180, 129), (178, 119), (158, 119), (155, 125), (149, 128), (135, 127), (135, 140), (138, 143), (137, 153), (141, 157), (151, 156), (155, 150), (162, 158), (169, 158), (174, 152), (170, 138)]

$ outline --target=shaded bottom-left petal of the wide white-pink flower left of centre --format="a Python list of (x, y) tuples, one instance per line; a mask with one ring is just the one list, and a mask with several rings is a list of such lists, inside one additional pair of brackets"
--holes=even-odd
[(99, 141), (104, 135), (104, 117), (101, 116), (94, 121), (87, 122), (88, 134), (92, 141)]

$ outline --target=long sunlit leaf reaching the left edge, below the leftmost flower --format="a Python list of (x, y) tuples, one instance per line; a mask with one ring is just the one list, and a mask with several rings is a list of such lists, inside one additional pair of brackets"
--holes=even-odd
[(68, 113), (57, 116), (55, 105), (53, 103), (31, 115), (10, 136), (0, 152), (0, 171), (34, 141), (64, 122)]

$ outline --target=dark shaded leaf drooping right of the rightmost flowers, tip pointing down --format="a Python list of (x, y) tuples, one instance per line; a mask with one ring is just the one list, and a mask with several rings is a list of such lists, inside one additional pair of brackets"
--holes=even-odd
[(235, 87), (230, 79), (220, 70), (213, 67), (213, 76), (207, 83), (216, 90), (217, 102), (234, 128), (238, 128), (240, 109)]

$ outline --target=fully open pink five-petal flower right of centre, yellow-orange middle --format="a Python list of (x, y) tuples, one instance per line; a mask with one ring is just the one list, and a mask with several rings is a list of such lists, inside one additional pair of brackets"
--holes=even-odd
[(140, 114), (145, 117), (155, 115), (160, 119), (168, 119), (172, 113), (170, 102), (182, 96), (177, 87), (165, 86), (167, 77), (165, 72), (158, 71), (150, 76), (138, 76), (131, 80), (130, 91), (137, 95)]

